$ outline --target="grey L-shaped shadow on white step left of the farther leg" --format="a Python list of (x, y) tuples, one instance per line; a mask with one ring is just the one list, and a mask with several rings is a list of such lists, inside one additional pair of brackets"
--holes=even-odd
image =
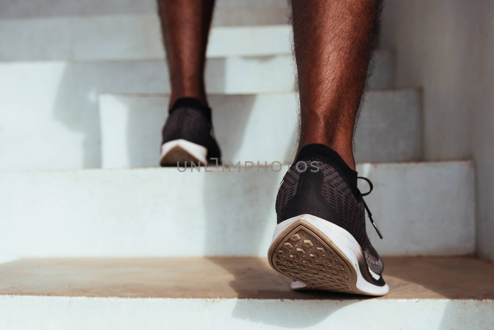
[(114, 61), (67, 64), (58, 87), (53, 116), (83, 136), (80, 167), (101, 166), (100, 93), (169, 91), (165, 61)]

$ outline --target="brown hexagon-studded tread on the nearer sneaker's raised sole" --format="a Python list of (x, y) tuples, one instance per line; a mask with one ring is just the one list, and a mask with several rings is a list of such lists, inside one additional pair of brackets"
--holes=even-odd
[(304, 225), (283, 237), (271, 259), (275, 270), (307, 284), (308, 289), (360, 293), (347, 262)]

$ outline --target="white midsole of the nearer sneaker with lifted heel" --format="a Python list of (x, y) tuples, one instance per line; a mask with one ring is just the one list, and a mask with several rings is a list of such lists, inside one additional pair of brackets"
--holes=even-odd
[[(355, 268), (355, 271), (357, 273), (357, 289), (361, 290), (362, 292), (365, 292), (367, 294), (372, 294), (372, 295), (384, 295), (388, 293), (389, 287), (387, 284), (385, 284), (382, 287), (376, 286), (370, 282), (368, 282), (364, 277), (362, 276), (362, 273), (360, 272), (360, 267), (359, 265), (365, 265), (365, 260), (364, 260), (364, 252), (362, 251), (362, 248), (360, 245), (357, 243), (355, 238), (347, 232), (345, 229), (335, 225), (332, 222), (329, 222), (327, 220), (321, 219), (317, 216), (311, 215), (311, 214), (302, 214), (302, 215), (297, 215), (294, 216), (288, 220), (285, 220), (278, 224), (275, 228), (274, 234), (273, 234), (273, 240), (271, 241), (271, 244), (274, 243), (274, 241), (295, 221), (298, 219), (303, 219), (319, 229), (323, 234), (325, 234), (344, 254), (345, 256), (352, 262), (352, 266)], [(379, 275), (375, 274), (374, 272), (371, 273), (372, 277), (376, 280), (380, 278)], [(375, 275), (375, 276), (374, 276)], [(377, 278), (376, 278), (377, 276)], [(297, 289), (299, 289), (300, 285), (296, 284)], [(295, 288), (293, 288), (295, 289)]]

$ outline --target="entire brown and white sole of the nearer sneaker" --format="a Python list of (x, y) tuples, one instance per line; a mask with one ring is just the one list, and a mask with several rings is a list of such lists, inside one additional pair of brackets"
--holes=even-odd
[(371, 279), (362, 248), (343, 228), (311, 214), (276, 226), (268, 251), (271, 267), (295, 280), (291, 288), (381, 296), (380, 275)]

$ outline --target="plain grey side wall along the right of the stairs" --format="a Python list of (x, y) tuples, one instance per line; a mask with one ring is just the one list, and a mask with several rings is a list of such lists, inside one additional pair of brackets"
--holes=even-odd
[(494, 261), (494, 2), (388, 1), (383, 44), (397, 82), (424, 89), (427, 160), (473, 158), (477, 253)]

